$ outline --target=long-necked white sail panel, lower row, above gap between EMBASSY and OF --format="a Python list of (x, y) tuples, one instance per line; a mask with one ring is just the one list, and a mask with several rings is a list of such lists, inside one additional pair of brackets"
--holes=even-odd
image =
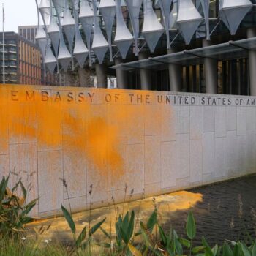
[(99, 22), (97, 20), (97, 4), (95, 0), (92, 0), (94, 6), (94, 39), (91, 45), (92, 50), (94, 50), (95, 55), (99, 61), (99, 64), (102, 64), (105, 54), (108, 50), (108, 42), (102, 34), (102, 31), (99, 27)]

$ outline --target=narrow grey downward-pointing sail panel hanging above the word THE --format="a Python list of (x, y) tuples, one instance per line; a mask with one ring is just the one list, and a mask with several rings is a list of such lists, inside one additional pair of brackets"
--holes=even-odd
[(125, 0), (129, 17), (132, 23), (133, 37), (135, 39), (135, 54), (138, 56), (138, 37), (140, 34), (140, 8), (143, 0)]

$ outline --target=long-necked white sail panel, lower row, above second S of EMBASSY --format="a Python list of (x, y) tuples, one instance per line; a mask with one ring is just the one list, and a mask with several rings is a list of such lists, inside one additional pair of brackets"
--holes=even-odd
[(77, 59), (79, 66), (81, 68), (83, 68), (83, 65), (88, 56), (88, 49), (86, 48), (86, 45), (84, 44), (83, 39), (80, 34), (80, 31), (79, 31), (78, 1), (72, 0), (72, 4), (73, 4), (73, 8), (74, 8), (74, 16), (75, 16), (75, 48), (74, 48), (73, 55), (75, 56), (75, 59)]

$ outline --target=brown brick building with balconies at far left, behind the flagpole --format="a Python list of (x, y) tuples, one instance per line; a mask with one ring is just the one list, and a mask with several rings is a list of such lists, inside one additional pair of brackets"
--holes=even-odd
[(14, 32), (4, 32), (3, 42), (0, 33), (0, 82), (3, 83), (3, 64), (5, 83), (42, 84), (41, 53), (37, 45)]

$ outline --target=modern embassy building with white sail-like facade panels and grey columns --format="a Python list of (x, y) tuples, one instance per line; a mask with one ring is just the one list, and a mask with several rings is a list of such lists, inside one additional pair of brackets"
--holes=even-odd
[(50, 72), (121, 89), (256, 96), (255, 0), (41, 0)]

